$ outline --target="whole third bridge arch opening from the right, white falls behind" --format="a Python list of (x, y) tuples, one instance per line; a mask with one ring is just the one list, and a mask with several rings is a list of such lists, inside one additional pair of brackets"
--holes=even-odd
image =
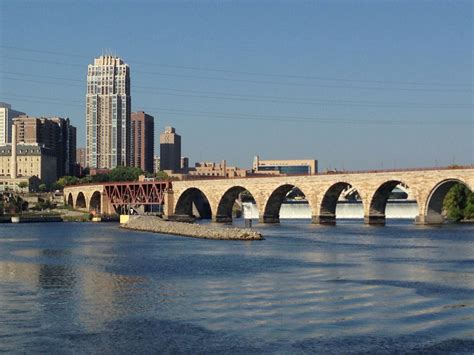
[(359, 191), (345, 181), (339, 181), (326, 190), (319, 206), (319, 215), (313, 216), (313, 223), (336, 224), (336, 208), (342, 218), (355, 219), (364, 215)]

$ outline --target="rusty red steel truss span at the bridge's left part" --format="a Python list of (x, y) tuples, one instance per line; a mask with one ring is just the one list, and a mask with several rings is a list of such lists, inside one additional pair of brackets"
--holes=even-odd
[(163, 205), (171, 181), (115, 182), (104, 184), (105, 194), (114, 206)]

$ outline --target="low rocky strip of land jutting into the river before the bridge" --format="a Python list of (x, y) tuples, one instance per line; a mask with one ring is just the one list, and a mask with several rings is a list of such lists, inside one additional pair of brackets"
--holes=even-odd
[(153, 216), (130, 216), (125, 229), (180, 235), (201, 239), (216, 240), (263, 240), (263, 236), (251, 229), (226, 228), (221, 226), (203, 226), (199, 224), (164, 221)]

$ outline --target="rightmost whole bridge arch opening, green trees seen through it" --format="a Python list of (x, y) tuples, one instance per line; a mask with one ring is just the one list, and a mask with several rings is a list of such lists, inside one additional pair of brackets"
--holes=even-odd
[[(446, 210), (445, 205), (449, 203), (449, 192), (457, 195), (458, 201), (452, 203), (455, 206), (452, 210)], [(425, 224), (440, 224), (443, 223), (445, 217), (452, 220), (459, 220), (464, 217), (463, 211), (469, 203), (469, 192), (473, 190), (465, 182), (459, 179), (447, 179), (439, 182), (428, 196), (426, 203), (426, 211), (424, 216)], [(474, 213), (473, 213), (474, 214)], [(469, 216), (468, 216), (469, 217)]]

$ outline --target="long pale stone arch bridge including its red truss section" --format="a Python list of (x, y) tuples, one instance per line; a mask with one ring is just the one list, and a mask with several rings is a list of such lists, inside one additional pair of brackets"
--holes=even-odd
[(298, 188), (311, 208), (312, 223), (334, 224), (340, 195), (355, 190), (364, 206), (365, 223), (384, 224), (388, 197), (400, 185), (418, 204), (416, 222), (438, 224), (443, 222), (444, 197), (456, 183), (474, 191), (474, 167), (77, 185), (66, 187), (64, 196), (74, 208), (104, 214), (115, 213), (120, 206), (162, 204), (166, 216), (189, 216), (197, 210), (202, 218), (227, 223), (232, 221), (235, 200), (248, 191), (260, 222), (278, 223), (286, 195)]

